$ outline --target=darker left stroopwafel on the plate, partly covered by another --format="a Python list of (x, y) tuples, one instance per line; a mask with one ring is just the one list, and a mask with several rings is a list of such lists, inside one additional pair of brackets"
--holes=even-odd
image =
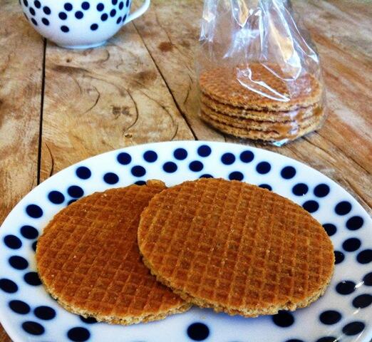
[(38, 274), (65, 309), (98, 321), (154, 321), (190, 308), (158, 283), (141, 261), (140, 213), (165, 188), (148, 185), (95, 192), (70, 204), (38, 239)]

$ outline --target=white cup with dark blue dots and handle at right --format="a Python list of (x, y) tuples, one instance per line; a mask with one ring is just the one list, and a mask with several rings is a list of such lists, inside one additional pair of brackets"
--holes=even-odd
[(26, 19), (45, 38), (63, 48), (103, 45), (147, 11), (150, 0), (130, 14), (132, 0), (19, 0)]

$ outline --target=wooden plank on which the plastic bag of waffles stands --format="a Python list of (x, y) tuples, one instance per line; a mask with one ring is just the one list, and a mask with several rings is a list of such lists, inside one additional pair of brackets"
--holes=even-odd
[[(368, 187), (372, 170), (372, 103), (368, 98), (371, 59), (368, 54), (355, 50), (350, 38), (353, 31), (361, 30), (363, 34), (354, 36), (356, 43), (361, 40), (372, 46), (371, 35), (366, 34), (365, 21), (358, 24), (354, 18), (347, 19), (348, 13), (335, 10), (327, 1), (314, 0), (309, 5), (307, 1), (293, 2), (321, 53), (329, 117), (319, 132), (284, 147), (260, 145), (216, 133), (198, 118), (194, 56), (202, 1), (182, 1), (174, 9), (167, 1), (154, 0), (152, 11), (135, 21), (135, 26), (198, 139), (239, 142), (294, 157), (339, 182), (371, 212), (372, 192)], [(358, 1), (350, 2), (358, 4)], [(322, 17), (331, 20), (327, 24)], [(349, 30), (346, 20), (355, 30)], [(337, 40), (333, 38), (335, 35)]]

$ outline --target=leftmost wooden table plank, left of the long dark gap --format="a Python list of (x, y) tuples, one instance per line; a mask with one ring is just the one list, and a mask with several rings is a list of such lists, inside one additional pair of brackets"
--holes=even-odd
[[(0, 1), (0, 224), (37, 184), (43, 39), (18, 1)], [(0, 326), (0, 341), (10, 338)]]

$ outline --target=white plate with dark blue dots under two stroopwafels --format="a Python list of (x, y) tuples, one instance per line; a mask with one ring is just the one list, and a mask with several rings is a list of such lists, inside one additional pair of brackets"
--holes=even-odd
[[(43, 227), (63, 207), (95, 191), (199, 177), (241, 180), (303, 206), (334, 243), (336, 270), (314, 304), (274, 316), (243, 318), (193, 308), (163, 321), (115, 326), (62, 309), (36, 273)], [(58, 172), (26, 195), (0, 229), (0, 320), (18, 341), (331, 342), (372, 338), (372, 220), (351, 195), (320, 172), (267, 150), (222, 142), (160, 142), (107, 152)]]

